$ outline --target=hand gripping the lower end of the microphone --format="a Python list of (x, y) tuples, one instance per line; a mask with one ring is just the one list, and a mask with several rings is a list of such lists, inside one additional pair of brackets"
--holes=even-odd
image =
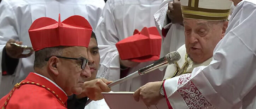
[(103, 99), (101, 92), (110, 92), (111, 89), (107, 86), (107, 84), (112, 83), (112, 81), (108, 81), (105, 78), (93, 79), (92, 81), (87, 81), (83, 83), (83, 90), (80, 95), (76, 97), (83, 98), (88, 97), (91, 100), (97, 101)]

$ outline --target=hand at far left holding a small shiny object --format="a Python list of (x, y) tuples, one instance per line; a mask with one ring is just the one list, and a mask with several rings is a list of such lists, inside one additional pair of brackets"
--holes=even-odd
[(32, 53), (33, 53), (33, 51), (31, 51), (28, 54), (22, 54), (22, 52), (24, 50), (23, 48), (15, 46), (15, 45), (11, 45), (10, 43), (16, 43), (16, 44), (21, 45), (22, 41), (15, 41), (13, 39), (10, 39), (7, 41), (7, 43), (5, 45), (5, 50), (6, 50), (7, 55), (11, 58), (16, 58), (16, 59), (26, 58), (26, 57), (29, 57), (30, 55), (32, 55)]

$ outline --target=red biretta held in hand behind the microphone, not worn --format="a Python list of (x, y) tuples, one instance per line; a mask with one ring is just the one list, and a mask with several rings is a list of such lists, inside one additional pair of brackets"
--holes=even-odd
[(144, 27), (141, 32), (135, 30), (133, 36), (116, 43), (122, 60), (147, 62), (158, 60), (161, 50), (161, 36), (156, 27)]

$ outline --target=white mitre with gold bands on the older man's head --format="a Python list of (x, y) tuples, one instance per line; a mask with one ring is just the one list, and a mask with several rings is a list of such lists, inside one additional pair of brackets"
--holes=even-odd
[(226, 20), (232, 5), (230, 0), (181, 0), (182, 16), (196, 20)]

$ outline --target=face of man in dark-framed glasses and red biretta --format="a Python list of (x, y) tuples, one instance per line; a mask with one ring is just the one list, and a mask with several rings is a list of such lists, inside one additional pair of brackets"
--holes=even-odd
[[(72, 46), (65, 48), (63, 50), (63, 57), (71, 57), (71, 58), (86, 58), (87, 56), (87, 48), (82, 46)], [(62, 59), (60, 60), (58, 67), (58, 85), (66, 92), (66, 94), (81, 94), (83, 82), (85, 82), (86, 78), (91, 77), (91, 72), (88, 64), (85, 69), (81, 69), (82, 62), (78, 60), (72, 59)]]

